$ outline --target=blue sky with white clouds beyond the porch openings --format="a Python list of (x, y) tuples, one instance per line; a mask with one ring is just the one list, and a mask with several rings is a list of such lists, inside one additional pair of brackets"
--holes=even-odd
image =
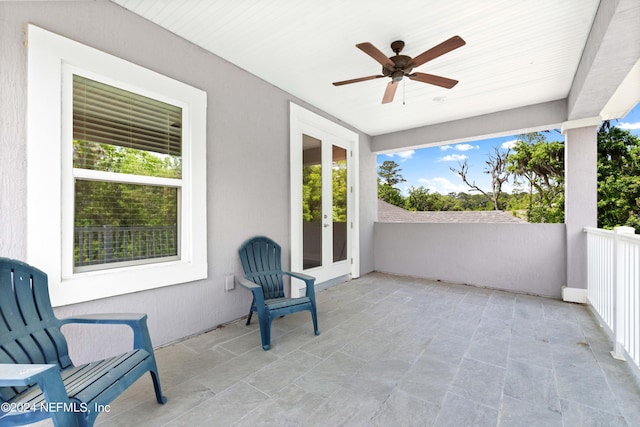
[[(613, 125), (628, 129), (632, 134), (640, 137), (640, 104), (620, 120), (614, 120)], [(549, 141), (563, 141), (564, 137), (557, 131), (546, 133)], [(409, 187), (423, 186), (440, 194), (451, 192), (469, 192), (469, 187), (462, 182), (459, 175), (450, 170), (451, 167), (460, 169), (460, 163), (465, 159), (469, 164), (470, 181), (485, 191), (491, 189), (491, 178), (484, 173), (487, 155), (493, 152), (493, 147), (506, 148), (514, 143), (517, 135), (491, 138), (461, 144), (443, 145), (420, 150), (401, 151), (378, 155), (378, 166), (385, 160), (393, 160), (400, 165), (400, 174), (406, 182), (400, 184), (404, 195)], [(503, 186), (503, 190), (511, 192), (513, 181)]]

